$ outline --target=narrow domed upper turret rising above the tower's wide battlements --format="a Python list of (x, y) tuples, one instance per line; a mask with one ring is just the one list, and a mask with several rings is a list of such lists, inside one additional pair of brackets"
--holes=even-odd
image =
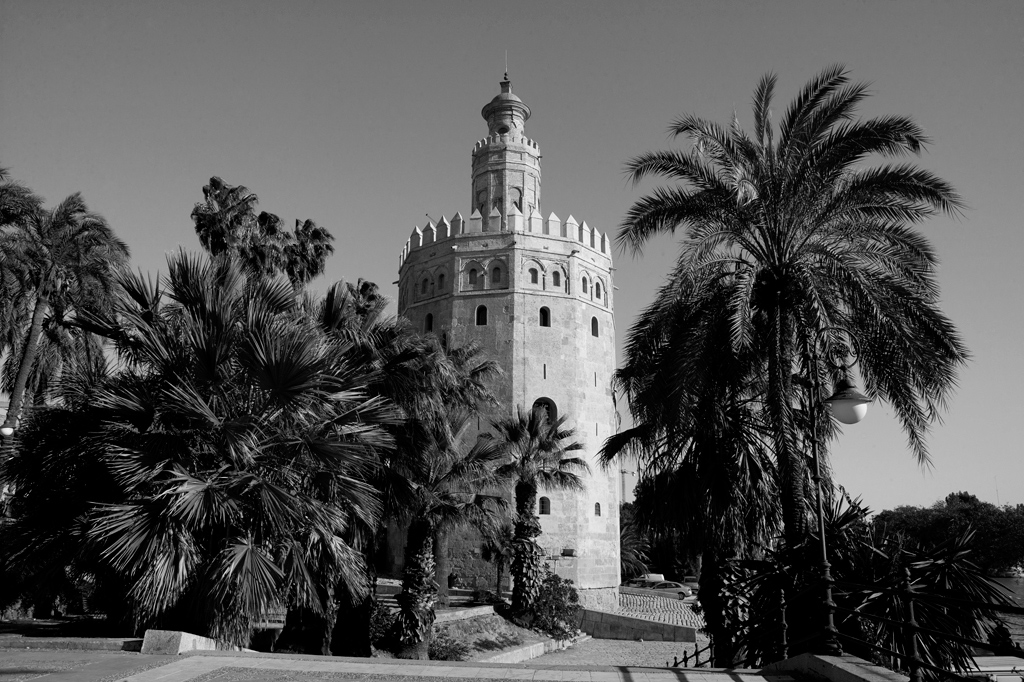
[(498, 220), (506, 230), (511, 214), (541, 214), (541, 154), (523, 128), (529, 106), (512, 93), (508, 74), (501, 86), (480, 111), (487, 136), (473, 147), (470, 206), (483, 220)]

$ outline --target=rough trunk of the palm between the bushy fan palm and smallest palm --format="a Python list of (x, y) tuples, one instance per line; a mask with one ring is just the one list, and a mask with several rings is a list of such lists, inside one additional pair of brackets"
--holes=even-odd
[(434, 625), (434, 529), (429, 520), (416, 518), (409, 526), (406, 546), (406, 570), (401, 581), (395, 619), (399, 658), (430, 658), (431, 628)]

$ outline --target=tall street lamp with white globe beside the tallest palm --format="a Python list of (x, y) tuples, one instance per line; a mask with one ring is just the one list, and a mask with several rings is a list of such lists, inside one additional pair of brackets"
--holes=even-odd
[[(815, 388), (817, 388), (816, 375), (814, 385)], [(839, 631), (836, 629), (836, 602), (833, 601), (831, 594), (831, 564), (828, 563), (828, 546), (827, 543), (825, 543), (825, 517), (824, 509), (822, 507), (821, 461), (818, 443), (818, 395), (820, 395), (820, 393), (815, 391), (814, 397), (811, 401), (811, 452), (814, 460), (814, 473), (812, 479), (814, 480), (814, 488), (817, 493), (818, 540), (821, 545), (821, 581), (824, 583), (825, 589), (824, 605), (826, 621), (824, 639), (822, 641), (821, 648), (822, 652), (827, 655), (841, 656), (843, 655), (843, 647), (839, 641)], [(853, 383), (847, 379), (839, 381), (836, 384), (836, 392), (833, 393), (831, 396), (821, 400), (821, 402), (824, 402), (831, 409), (833, 417), (843, 424), (856, 424), (863, 419), (864, 415), (867, 413), (867, 404), (870, 401), (870, 398), (857, 391)]]

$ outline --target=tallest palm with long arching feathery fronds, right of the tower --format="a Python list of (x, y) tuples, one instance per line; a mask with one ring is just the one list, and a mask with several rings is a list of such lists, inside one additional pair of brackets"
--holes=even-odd
[[(868, 392), (892, 406), (912, 453), (928, 461), (925, 435), (967, 351), (938, 307), (935, 254), (912, 226), (936, 213), (955, 214), (962, 203), (926, 170), (864, 164), (872, 156), (916, 154), (928, 140), (906, 117), (855, 119), (866, 86), (851, 84), (843, 67), (802, 89), (777, 138), (775, 80), (765, 76), (755, 91), (753, 136), (736, 120), (723, 128), (684, 116), (670, 131), (689, 138), (688, 153), (629, 162), (635, 182), (659, 175), (683, 184), (638, 201), (618, 242), (640, 253), (651, 237), (682, 229), (677, 281), (698, 300), (728, 296), (728, 345), (746, 356), (757, 379), (749, 385), (762, 391), (785, 540), (797, 545), (807, 528), (807, 457), (796, 406), (801, 393), (806, 403), (819, 402), (824, 379), (845, 377), (843, 366), (826, 359), (850, 354), (851, 339)], [(685, 384), (689, 377), (671, 380)]]

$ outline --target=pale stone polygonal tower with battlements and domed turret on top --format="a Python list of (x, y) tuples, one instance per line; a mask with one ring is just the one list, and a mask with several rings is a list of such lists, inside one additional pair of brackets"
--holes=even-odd
[[(541, 155), (523, 130), (530, 110), (507, 74), (481, 116), (487, 136), (473, 147), (470, 216), (413, 230), (400, 257), (398, 312), (457, 344), (479, 342), (501, 365), (496, 417), (535, 404), (568, 417), (591, 463), (587, 491), (539, 491), (538, 542), (585, 603), (610, 605), (620, 580), (620, 492), (617, 471), (596, 460), (616, 423), (610, 244), (571, 215), (542, 218)], [(473, 552), (468, 542), (451, 547)], [(472, 563), (453, 557), (467, 582), (489, 587), (494, 569)]]

